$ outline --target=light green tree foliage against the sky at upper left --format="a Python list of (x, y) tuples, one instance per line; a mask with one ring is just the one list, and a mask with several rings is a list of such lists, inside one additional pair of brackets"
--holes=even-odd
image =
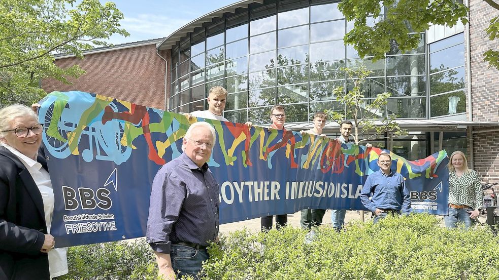
[(86, 50), (109, 46), (112, 34), (128, 35), (116, 5), (98, 0), (0, 0), (0, 19), (0, 107), (38, 101), (42, 78), (69, 84), (67, 77), (85, 73), (56, 66), (54, 54), (83, 58)]

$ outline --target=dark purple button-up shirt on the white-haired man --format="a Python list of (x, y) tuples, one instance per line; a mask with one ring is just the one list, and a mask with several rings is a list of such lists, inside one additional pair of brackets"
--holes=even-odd
[(185, 152), (163, 165), (152, 183), (147, 243), (164, 254), (176, 242), (208, 246), (218, 236), (219, 193), (208, 164), (199, 168)]

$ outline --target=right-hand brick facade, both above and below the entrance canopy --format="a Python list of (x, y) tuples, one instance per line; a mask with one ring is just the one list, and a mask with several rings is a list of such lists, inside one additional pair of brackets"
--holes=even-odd
[[(481, 0), (470, 1), (471, 82), (473, 121), (499, 122), (499, 70), (483, 61), (488, 49), (499, 50), (484, 29), (499, 11)], [(486, 131), (486, 132), (478, 132)], [(478, 132), (478, 133), (477, 133)], [(484, 182), (499, 181), (499, 127), (476, 128), (473, 135), (474, 169)]]

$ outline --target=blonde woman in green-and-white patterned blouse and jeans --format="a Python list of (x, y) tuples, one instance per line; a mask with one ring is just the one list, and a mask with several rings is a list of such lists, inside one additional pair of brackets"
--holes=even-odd
[(446, 227), (456, 227), (458, 222), (469, 228), (480, 214), (483, 205), (482, 182), (475, 170), (468, 168), (464, 153), (455, 151), (449, 164), (449, 214), (444, 216)]

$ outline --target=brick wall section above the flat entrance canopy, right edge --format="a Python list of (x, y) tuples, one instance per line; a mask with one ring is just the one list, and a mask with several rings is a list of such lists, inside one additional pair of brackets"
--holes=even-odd
[(473, 121), (499, 122), (499, 70), (483, 61), (485, 51), (499, 50), (499, 40), (489, 41), (483, 31), (496, 16), (499, 11), (484, 1), (470, 1)]

